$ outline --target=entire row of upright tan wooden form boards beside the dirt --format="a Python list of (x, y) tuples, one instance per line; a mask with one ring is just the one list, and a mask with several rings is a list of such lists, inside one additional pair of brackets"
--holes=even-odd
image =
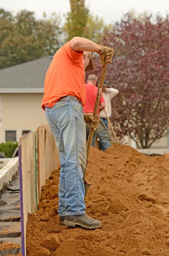
[(52, 172), (60, 167), (56, 142), (48, 125), (37, 132), (23, 135), (19, 141), (20, 212), (22, 255), (26, 256), (26, 223), (28, 212), (37, 210), (42, 186)]

